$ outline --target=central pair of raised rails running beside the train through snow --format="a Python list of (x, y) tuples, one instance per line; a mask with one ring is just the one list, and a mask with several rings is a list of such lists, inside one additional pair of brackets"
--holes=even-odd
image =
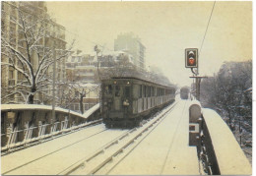
[(120, 135), (110, 143), (59, 172), (58, 175), (107, 174), (160, 124), (176, 104), (177, 102), (166, 107), (157, 117), (150, 119), (142, 127), (131, 129)]

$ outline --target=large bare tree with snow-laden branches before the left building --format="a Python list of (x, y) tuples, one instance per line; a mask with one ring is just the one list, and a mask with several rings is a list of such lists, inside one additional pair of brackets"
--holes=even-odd
[[(52, 84), (52, 65), (64, 60), (71, 47), (55, 46), (55, 23), (47, 14), (36, 16), (18, 9), (18, 18), (10, 18), (17, 27), (15, 34), (1, 32), (2, 68), (10, 67), (20, 75), (20, 82), (16, 85), (4, 88), (2, 86), (2, 99), (20, 94), (25, 103), (34, 103), (36, 94), (49, 92)], [(14, 44), (17, 41), (18, 44)]]

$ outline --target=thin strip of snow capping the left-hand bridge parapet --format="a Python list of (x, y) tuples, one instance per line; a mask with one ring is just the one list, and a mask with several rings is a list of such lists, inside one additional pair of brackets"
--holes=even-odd
[[(89, 109), (83, 115), (78, 113), (78, 112), (75, 112), (75, 111), (72, 111), (72, 110), (69, 111), (69, 109), (64, 109), (64, 108), (61, 108), (61, 107), (55, 107), (55, 111), (70, 113), (72, 115), (80, 116), (82, 118), (88, 118), (90, 115), (92, 115), (99, 108), (99, 103), (97, 103), (96, 105), (94, 107), (92, 107), (91, 109)], [(1, 111), (3, 111), (3, 110), (29, 110), (29, 109), (52, 110), (52, 106), (50, 106), (50, 105), (39, 105), (39, 104), (1, 104)]]

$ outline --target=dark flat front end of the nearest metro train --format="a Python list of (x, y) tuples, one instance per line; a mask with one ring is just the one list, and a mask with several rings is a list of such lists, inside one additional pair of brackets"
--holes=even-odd
[(132, 81), (104, 80), (101, 84), (101, 114), (107, 128), (132, 123)]

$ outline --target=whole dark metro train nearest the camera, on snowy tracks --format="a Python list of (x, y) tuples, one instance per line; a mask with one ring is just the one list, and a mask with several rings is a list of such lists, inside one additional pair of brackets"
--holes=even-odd
[(106, 128), (140, 125), (156, 109), (175, 100), (175, 88), (138, 78), (101, 81), (100, 112)]

